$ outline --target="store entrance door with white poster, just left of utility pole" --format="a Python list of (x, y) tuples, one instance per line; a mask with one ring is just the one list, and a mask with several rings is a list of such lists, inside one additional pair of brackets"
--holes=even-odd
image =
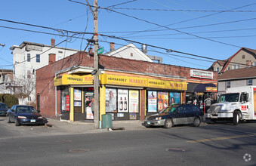
[(94, 88), (85, 88), (85, 119), (94, 120), (94, 115), (91, 110), (91, 98), (94, 97)]

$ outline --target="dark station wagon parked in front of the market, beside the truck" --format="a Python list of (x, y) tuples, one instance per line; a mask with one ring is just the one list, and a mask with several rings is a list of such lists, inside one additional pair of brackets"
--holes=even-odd
[(201, 121), (205, 120), (204, 112), (199, 106), (193, 104), (174, 105), (163, 109), (161, 112), (146, 117), (144, 125), (148, 128), (150, 126), (164, 126), (171, 128), (175, 124), (193, 124), (199, 127)]

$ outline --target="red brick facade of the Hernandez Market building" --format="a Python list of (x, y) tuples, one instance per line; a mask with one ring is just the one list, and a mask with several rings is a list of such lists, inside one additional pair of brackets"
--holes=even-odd
[[(86, 66), (93, 69), (94, 57), (87, 53), (77, 53), (66, 57), (63, 60), (51, 63), (48, 66), (36, 70), (36, 94), (40, 94), (40, 110), (42, 115), (48, 117), (55, 117), (55, 87), (54, 77), (55, 73), (69, 69), (72, 66)], [(190, 69), (182, 66), (172, 66), (161, 63), (150, 63), (140, 60), (128, 60), (119, 57), (109, 57), (100, 55), (99, 57), (100, 69), (111, 69), (120, 72), (145, 73), (149, 75), (165, 75), (187, 78), (187, 81), (211, 81), (217, 85), (217, 72), (214, 72), (213, 80), (202, 78), (191, 78)], [(59, 90), (57, 88), (57, 90)], [(186, 94), (183, 93), (182, 102), (185, 102)], [(141, 109), (145, 110), (145, 93), (141, 95), (140, 102), (144, 103)], [(144, 112), (141, 112), (144, 113)], [(57, 91), (57, 114), (60, 114), (60, 91)], [(143, 116), (143, 115), (142, 115)]]

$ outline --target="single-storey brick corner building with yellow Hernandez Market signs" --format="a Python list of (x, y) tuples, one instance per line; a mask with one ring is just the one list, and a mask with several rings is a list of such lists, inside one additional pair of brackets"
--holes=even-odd
[[(47, 117), (93, 119), (94, 57), (76, 53), (36, 71), (37, 109)], [(217, 85), (217, 72), (100, 55), (100, 118), (143, 120), (175, 103), (186, 103), (188, 85)], [(210, 74), (208, 76), (207, 74)], [(191, 90), (190, 90), (191, 91)]]

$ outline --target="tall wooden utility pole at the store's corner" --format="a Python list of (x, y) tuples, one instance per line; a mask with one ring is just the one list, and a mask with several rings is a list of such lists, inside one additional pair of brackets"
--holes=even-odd
[(97, 0), (94, 0), (94, 70), (97, 71), (94, 75), (94, 128), (99, 128), (100, 115), (100, 95), (99, 95), (99, 57), (98, 49), (98, 29), (97, 29)]

